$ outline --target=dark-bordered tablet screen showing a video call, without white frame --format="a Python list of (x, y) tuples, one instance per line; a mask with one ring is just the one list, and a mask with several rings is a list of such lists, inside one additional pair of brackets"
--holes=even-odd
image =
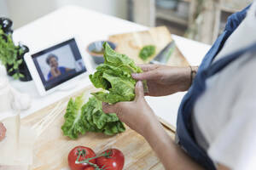
[(86, 71), (74, 38), (32, 54), (32, 60), (46, 91)]

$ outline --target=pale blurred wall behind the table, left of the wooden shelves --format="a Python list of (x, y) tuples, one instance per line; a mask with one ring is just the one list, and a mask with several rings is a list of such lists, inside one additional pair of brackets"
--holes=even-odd
[(127, 0), (0, 0), (0, 6), (4, 1), (7, 3), (9, 18), (14, 21), (15, 28), (68, 4), (127, 19)]

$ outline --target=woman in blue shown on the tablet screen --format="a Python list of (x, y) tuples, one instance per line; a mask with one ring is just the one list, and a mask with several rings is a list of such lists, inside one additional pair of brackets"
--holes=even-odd
[(51, 80), (55, 77), (59, 77), (62, 74), (65, 74), (67, 71), (71, 71), (71, 69), (66, 68), (64, 66), (59, 66), (58, 57), (55, 54), (49, 54), (46, 58), (46, 63), (50, 67), (50, 71), (48, 73), (48, 80)]

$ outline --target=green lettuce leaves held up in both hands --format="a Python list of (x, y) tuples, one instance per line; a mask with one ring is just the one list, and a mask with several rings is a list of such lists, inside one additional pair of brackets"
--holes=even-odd
[(96, 92), (92, 95), (109, 104), (133, 100), (137, 81), (131, 77), (131, 73), (143, 72), (142, 69), (125, 54), (116, 53), (107, 42), (103, 44), (103, 48), (104, 64), (96, 67), (96, 72), (90, 75), (90, 82), (96, 88), (103, 88), (108, 92)]

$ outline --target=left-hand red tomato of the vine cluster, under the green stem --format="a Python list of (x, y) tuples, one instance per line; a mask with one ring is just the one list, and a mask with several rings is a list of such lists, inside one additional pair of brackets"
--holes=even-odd
[[(85, 151), (83, 155), (80, 156), (79, 161), (84, 161), (87, 158), (95, 157), (96, 154), (93, 150), (90, 148), (84, 147), (84, 146), (77, 146), (73, 148), (68, 154), (68, 166), (71, 168), (71, 170), (92, 170), (92, 168), (89, 168), (90, 165), (87, 163), (76, 163), (76, 160), (79, 156), (79, 151)], [(96, 163), (96, 159), (90, 160), (91, 163)]]

